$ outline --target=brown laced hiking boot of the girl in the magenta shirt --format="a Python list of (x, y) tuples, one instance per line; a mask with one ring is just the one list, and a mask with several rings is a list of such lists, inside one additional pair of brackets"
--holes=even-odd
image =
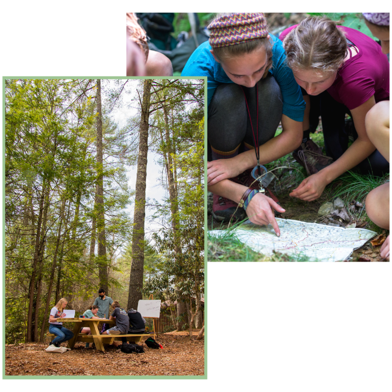
[(322, 154), (321, 148), (313, 140), (302, 143), (293, 151), (293, 156), (308, 175), (318, 173), (333, 162), (331, 157)]

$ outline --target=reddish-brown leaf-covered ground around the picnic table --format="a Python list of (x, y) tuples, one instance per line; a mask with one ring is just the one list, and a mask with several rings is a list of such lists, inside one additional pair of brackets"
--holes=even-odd
[[(204, 338), (196, 341), (199, 329), (193, 330), (193, 340), (188, 331), (160, 334), (156, 342), (163, 349), (143, 346), (145, 352), (125, 354), (120, 348), (105, 345), (106, 352), (85, 348), (85, 343), (63, 354), (45, 351), (48, 343), (5, 345), (5, 375), (28, 376), (82, 376), (82, 375), (204, 375)], [(66, 347), (66, 343), (62, 343)]]

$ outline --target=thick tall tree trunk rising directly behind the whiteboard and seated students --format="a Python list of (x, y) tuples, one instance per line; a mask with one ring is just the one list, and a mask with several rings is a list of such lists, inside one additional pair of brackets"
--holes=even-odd
[(132, 264), (129, 277), (128, 309), (137, 309), (142, 299), (144, 267), (144, 221), (146, 209), (146, 178), (148, 152), (148, 118), (151, 97), (151, 79), (144, 80), (142, 115), (140, 120), (138, 170), (136, 175), (135, 211), (132, 232)]

